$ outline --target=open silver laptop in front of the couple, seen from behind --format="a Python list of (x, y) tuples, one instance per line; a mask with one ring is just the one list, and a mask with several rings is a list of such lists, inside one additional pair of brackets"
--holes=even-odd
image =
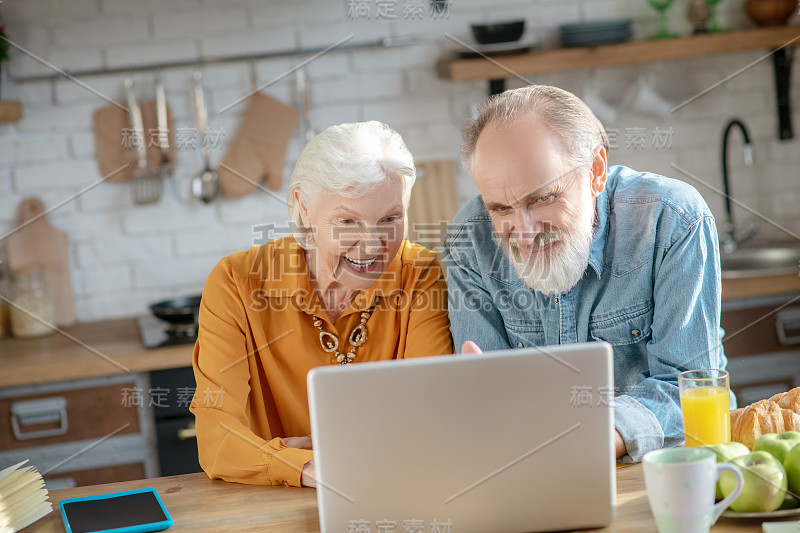
[(323, 533), (504, 533), (614, 520), (611, 346), (308, 374)]

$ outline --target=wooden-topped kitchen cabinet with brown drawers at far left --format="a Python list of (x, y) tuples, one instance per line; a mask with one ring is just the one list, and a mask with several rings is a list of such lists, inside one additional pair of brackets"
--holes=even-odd
[(0, 339), (0, 464), (29, 459), (50, 488), (160, 475), (151, 372), (191, 374), (192, 345), (148, 350), (135, 319), (65, 333)]

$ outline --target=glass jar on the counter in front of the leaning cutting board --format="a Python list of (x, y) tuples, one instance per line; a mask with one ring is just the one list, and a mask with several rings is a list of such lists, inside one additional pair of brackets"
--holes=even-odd
[[(12, 277), (11, 334), (19, 338), (53, 333), (55, 309), (44, 269), (24, 270)], [(33, 315), (33, 316), (31, 316)]]

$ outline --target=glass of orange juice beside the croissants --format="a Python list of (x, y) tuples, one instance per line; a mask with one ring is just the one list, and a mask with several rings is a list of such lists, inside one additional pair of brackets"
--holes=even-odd
[(686, 446), (731, 441), (730, 381), (725, 370), (678, 374)]

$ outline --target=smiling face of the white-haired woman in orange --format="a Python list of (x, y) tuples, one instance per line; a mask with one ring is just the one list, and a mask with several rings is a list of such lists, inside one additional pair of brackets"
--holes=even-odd
[(315, 277), (353, 290), (370, 287), (397, 255), (405, 234), (406, 208), (401, 178), (375, 184), (359, 198), (325, 191), (305, 205), (303, 225), (313, 235)]

